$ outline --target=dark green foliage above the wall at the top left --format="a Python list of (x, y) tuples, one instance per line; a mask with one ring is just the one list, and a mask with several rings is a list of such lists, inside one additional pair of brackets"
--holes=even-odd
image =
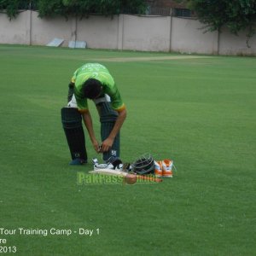
[(90, 14), (119, 15), (121, 13), (144, 14), (145, 0), (0, 0), (0, 10), (10, 19), (19, 9), (38, 9), (41, 18), (61, 15), (77, 15), (83, 18)]

